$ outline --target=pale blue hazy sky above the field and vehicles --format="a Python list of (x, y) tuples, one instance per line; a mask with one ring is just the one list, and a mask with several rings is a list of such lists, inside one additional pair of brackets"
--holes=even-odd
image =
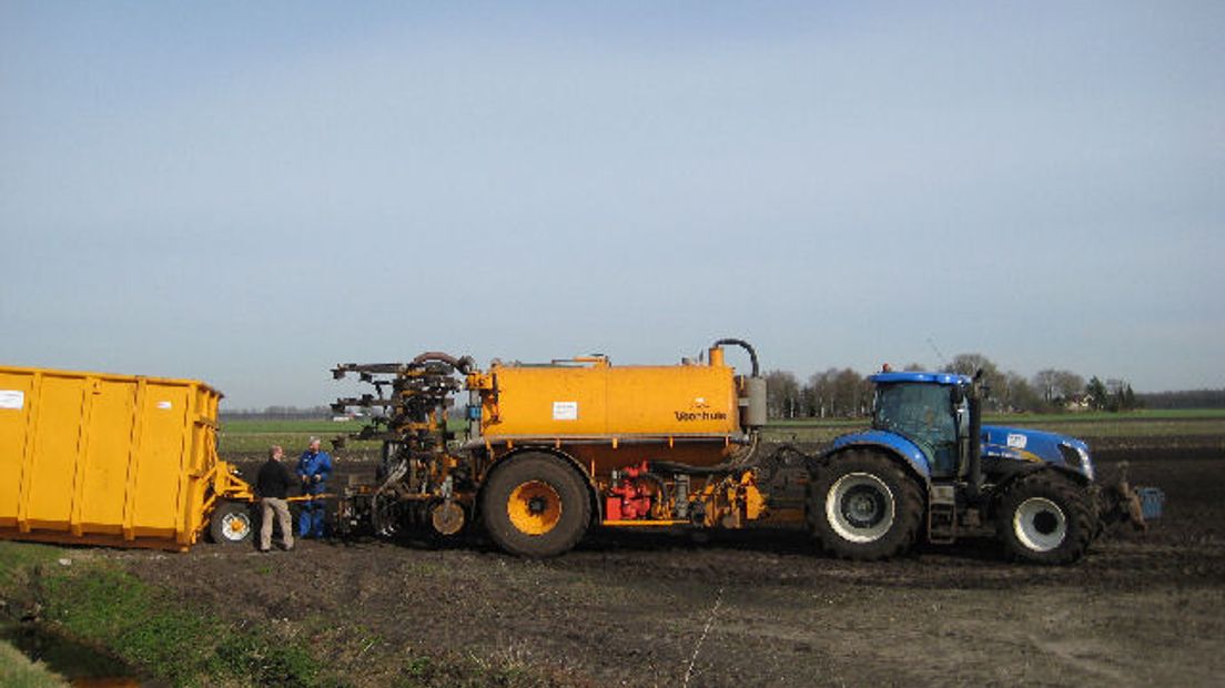
[[(0, 2), (0, 364), (1225, 387), (1225, 4)], [(739, 359), (734, 359), (737, 362)]]

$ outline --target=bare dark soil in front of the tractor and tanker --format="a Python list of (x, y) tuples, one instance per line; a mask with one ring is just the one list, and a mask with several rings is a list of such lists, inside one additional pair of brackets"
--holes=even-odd
[(1133, 484), (1165, 490), (1165, 518), (1062, 568), (1007, 563), (991, 540), (843, 562), (779, 528), (703, 542), (601, 531), (549, 561), (479, 536), (110, 556), (185, 600), (314, 643), (361, 684), (392, 678), (408, 652), (448, 651), (578, 686), (1219, 684), (1223, 447), (1099, 447), (1102, 473), (1128, 460)]

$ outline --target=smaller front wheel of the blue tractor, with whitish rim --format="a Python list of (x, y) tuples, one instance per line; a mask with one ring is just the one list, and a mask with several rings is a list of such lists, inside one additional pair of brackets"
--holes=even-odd
[(1041, 471), (1018, 479), (996, 512), (996, 535), (1008, 556), (1040, 564), (1072, 563), (1098, 531), (1088, 492), (1071, 479)]

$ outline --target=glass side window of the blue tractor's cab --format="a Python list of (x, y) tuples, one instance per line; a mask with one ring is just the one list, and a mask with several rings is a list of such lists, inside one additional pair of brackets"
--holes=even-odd
[(882, 384), (876, 391), (872, 427), (897, 432), (919, 446), (932, 473), (957, 470), (957, 420), (953, 388), (947, 384)]

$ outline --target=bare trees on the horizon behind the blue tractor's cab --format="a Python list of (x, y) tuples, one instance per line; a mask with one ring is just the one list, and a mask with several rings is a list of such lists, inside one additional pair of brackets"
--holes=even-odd
[[(904, 371), (930, 370), (911, 362)], [(1001, 370), (982, 354), (958, 354), (938, 372), (973, 376), (982, 371), (985, 408), (998, 413), (1056, 413), (1071, 410), (1125, 411), (1144, 406), (1144, 398), (1126, 380), (1044, 368), (1031, 377)], [(801, 382), (795, 373), (766, 373), (767, 409), (773, 419), (858, 417), (872, 411), (872, 383), (851, 368), (832, 367)], [(1225, 391), (1223, 391), (1225, 392)]]

